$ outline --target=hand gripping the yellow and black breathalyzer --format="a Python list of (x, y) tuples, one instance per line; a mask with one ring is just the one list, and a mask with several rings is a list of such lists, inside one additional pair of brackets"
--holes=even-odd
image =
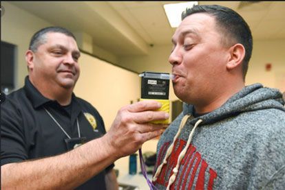
[(162, 133), (164, 125), (148, 123), (169, 117), (166, 112), (154, 111), (160, 106), (160, 103), (149, 100), (125, 106), (118, 111), (109, 132), (105, 134), (117, 158), (136, 152), (142, 143)]

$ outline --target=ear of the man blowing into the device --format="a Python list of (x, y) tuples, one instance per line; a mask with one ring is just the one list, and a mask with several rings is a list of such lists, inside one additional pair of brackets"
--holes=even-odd
[(237, 43), (230, 47), (229, 49), (230, 59), (229, 62), (226, 64), (226, 69), (234, 69), (235, 67), (242, 64), (245, 56), (245, 49), (244, 46), (240, 43)]

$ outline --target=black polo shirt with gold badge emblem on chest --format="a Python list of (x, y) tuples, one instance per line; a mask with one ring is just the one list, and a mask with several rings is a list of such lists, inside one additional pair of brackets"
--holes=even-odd
[[(91, 104), (72, 94), (70, 106), (61, 106), (43, 97), (27, 76), (25, 86), (8, 95), (1, 104), (1, 165), (67, 152), (64, 141), (67, 139), (66, 134), (44, 108), (71, 138), (78, 137), (76, 118), (81, 136), (86, 137), (87, 141), (106, 132), (101, 115)], [(69, 162), (71, 165), (76, 164)], [(78, 189), (105, 189), (105, 172), (112, 167), (114, 164)]]

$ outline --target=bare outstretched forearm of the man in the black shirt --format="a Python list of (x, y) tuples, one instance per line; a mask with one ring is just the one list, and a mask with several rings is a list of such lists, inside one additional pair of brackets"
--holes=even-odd
[(78, 187), (116, 160), (104, 137), (59, 156), (1, 166), (1, 189)]

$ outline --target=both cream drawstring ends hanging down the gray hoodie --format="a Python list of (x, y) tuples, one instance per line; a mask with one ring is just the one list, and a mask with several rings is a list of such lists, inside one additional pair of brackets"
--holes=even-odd
[[(178, 132), (176, 133), (176, 136), (174, 136), (173, 138), (173, 141), (171, 143), (171, 145), (168, 147), (167, 149), (167, 152), (165, 154), (165, 158), (163, 159), (162, 163), (158, 166), (158, 169), (156, 169), (156, 174), (154, 174), (154, 178), (153, 178), (153, 181), (156, 181), (159, 174), (160, 174), (160, 171), (162, 170), (162, 167), (163, 165), (167, 164), (167, 158), (170, 156), (171, 152), (173, 151), (173, 147), (174, 147), (174, 143), (176, 142), (176, 139), (178, 139), (178, 136), (180, 135), (181, 133), (181, 130), (182, 128), (185, 126), (185, 123), (187, 122), (187, 120), (189, 119), (190, 115), (185, 115), (183, 118), (182, 118), (182, 121), (180, 122), (180, 126), (178, 128)], [(196, 123), (195, 123), (195, 126), (193, 127), (193, 129), (191, 130), (190, 134), (189, 134), (189, 138), (187, 140), (187, 144), (186, 146), (184, 147), (184, 149), (182, 150), (182, 152), (180, 152), (179, 156), (178, 156), (178, 161), (177, 161), (177, 164), (176, 164), (176, 167), (173, 168), (173, 174), (171, 175), (171, 177), (169, 178), (169, 182), (168, 182), (168, 186), (167, 186), (167, 189), (170, 188), (170, 186), (173, 184), (173, 182), (175, 181), (176, 179), (176, 175), (178, 173), (178, 170), (179, 170), (179, 167), (180, 167), (180, 163), (182, 161), (182, 159), (184, 158), (184, 155), (186, 154), (187, 152), (187, 149), (191, 143), (191, 139), (192, 139), (192, 136), (196, 130), (196, 128), (198, 127), (198, 125), (202, 122), (202, 119), (199, 119)]]

